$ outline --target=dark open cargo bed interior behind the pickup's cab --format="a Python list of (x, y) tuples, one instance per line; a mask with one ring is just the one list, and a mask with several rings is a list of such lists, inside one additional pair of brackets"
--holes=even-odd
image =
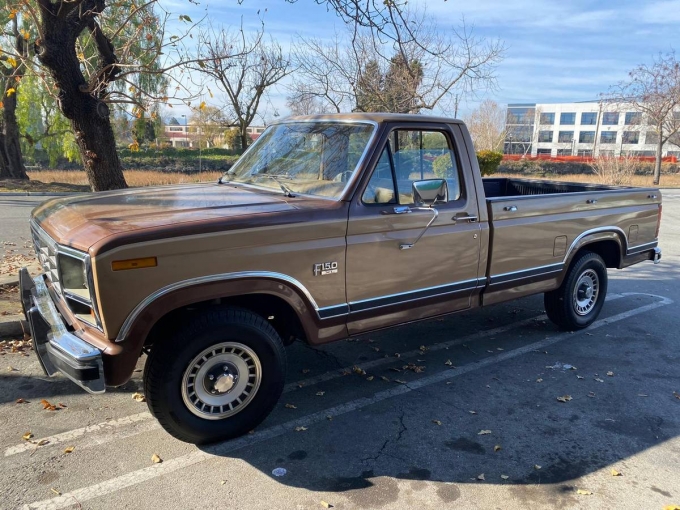
[(482, 179), (482, 182), (484, 183), (486, 198), (625, 189), (620, 186), (605, 186), (603, 184), (580, 184), (537, 179), (512, 179), (507, 177), (486, 177)]

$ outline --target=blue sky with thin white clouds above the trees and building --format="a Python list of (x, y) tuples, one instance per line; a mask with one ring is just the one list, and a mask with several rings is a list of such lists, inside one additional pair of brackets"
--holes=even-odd
[[(468, 98), (459, 116), (483, 99), (500, 104), (597, 99), (625, 80), (636, 65), (651, 63), (678, 46), (680, 0), (411, 0), (424, 6), (446, 30), (465, 20), (474, 35), (505, 47), (496, 70), (497, 88)], [(330, 38), (342, 21), (315, 0), (160, 0), (173, 19), (203, 16), (214, 25), (246, 29), (264, 17), (266, 31), (284, 48), (299, 35)], [(259, 11), (259, 14), (258, 14)], [(172, 23), (179, 22), (173, 21)], [(270, 95), (265, 119), (285, 116), (285, 83)], [(208, 100), (219, 104), (220, 96)], [(180, 109), (176, 109), (179, 112)], [(182, 112), (184, 113), (184, 112)]]

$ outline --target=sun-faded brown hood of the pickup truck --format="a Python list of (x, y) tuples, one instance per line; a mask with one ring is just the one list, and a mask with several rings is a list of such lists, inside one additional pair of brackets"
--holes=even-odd
[[(309, 199), (290, 201), (305, 200)], [(225, 222), (295, 209), (297, 205), (273, 191), (231, 184), (186, 184), (50, 200), (33, 210), (32, 220), (58, 243), (88, 251), (116, 234), (168, 227), (179, 232), (192, 225), (215, 223), (224, 228)]]

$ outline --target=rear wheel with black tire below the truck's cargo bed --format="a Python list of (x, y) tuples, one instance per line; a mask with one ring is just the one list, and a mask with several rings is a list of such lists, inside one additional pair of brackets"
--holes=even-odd
[[(589, 288), (594, 295), (589, 295)], [(597, 253), (584, 252), (569, 267), (562, 285), (543, 297), (548, 318), (566, 331), (587, 328), (600, 314), (607, 295), (607, 265)]]

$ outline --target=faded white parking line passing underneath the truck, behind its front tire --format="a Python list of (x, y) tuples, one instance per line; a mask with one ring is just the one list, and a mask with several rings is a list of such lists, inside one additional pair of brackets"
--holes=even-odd
[[(620, 299), (624, 297), (623, 294), (608, 294), (606, 301), (614, 301), (616, 299)], [(507, 331), (510, 331), (512, 329), (516, 329), (522, 326), (526, 326), (528, 324), (531, 324), (535, 321), (541, 321), (541, 320), (547, 320), (546, 315), (538, 315), (536, 317), (531, 317), (529, 319), (523, 319), (518, 322), (513, 322), (512, 324), (506, 324), (505, 326), (500, 326), (497, 328), (493, 329), (488, 329), (484, 331), (480, 331), (478, 333), (473, 333), (471, 335), (467, 335), (461, 338), (456, 338), (454, 340), (450, 340), (448, 342), (441, 342), (438, 344), (433, 344), (428, 346), (428, 351), (431, 352), (436, 352), (440, 351), (443, 349), (447, 349), (449, 347), (453, 347), (456, 345), (461, 345), (466, 342), (472, 342), (475, 340), (481, 340), (483, 338), (489, 338), (493, 337), (495, 335), (499, 335), (501, 333), (505, 333)], [(404, 353), (401, 353), (401, 356), (399, 359), (408, 359), (408, 358), (413, 358), (416, 356), (422, 356), (423, 353), (419, 349), (414, 349), (412, 351), (407, 351)], [(306, 388), (309, 386), (313, 386), (315, 384), (318, 384), (320, 382), (327, 382), (331, 381), (333, 379), (337, 379), (339, 377), (343, 376), (343, 372), (351, 372), (352, 368), (354, 366), (357, 366), (363, 370), (370, 370), (382, 365), (387, 365), (390, 363), (394, 363), (397, 361), (397, 358), (394, 358), (393, 356), (390, 356), (389, 358), (379, 358), (376, 360), (368, 361), (366, 363), (358, 363), (356, 365), (352, 365), (349, 367), (345, 367), (344, 369), (339, 369), (339, 370), (334, 370), (332, 372), (326, 372), (324, 374), (315, 376), (315, 377), (310, 377), (308, 379), (304, 379), (301, 381), (297, 382), (292, 382), (287, 384), (284, 387), (284, 393), (290, 392), (297, 390), (299, 388)], [(151, 414), (149, 413), (140, 413), (140, 414), (135, 414), (132, 416), (128, 416), (126, 418), (120, 418), (118, 420), (111, 420), (108, 422), (104, 423), (98, 423), (96, 425), (90, 425), (88, 427), (83, 427), (80, 429), (75, 429), (71, 430), (68, 432), (63, 432), (61, 434), (56, 434), (54, 436), (47, 436), (43, 437), (41, 439), (35, 439), (32, 443), (21, 443), (15, 446), (11, 446), (5, 450), (5, 457), (9, 457), (11, 455), (16, 455), (19, 453), (24, 453), (27, 451), (34, 451), (36, 448), (36, 444), (47, 440), (48, 443), (44, 444), (43, 446), (40, 446), (39, 448), (45, 449), (45, 448), (50, 448), (51, 446), (57, 445), (57, 444), (62, 444), (65, 442), (71, 442), (76, 438), (82, 437), (82, 436), (87, 436), (87, 439), (85, 441), (80, 441), (78, 443), (78, 448), (88, 448), (92, 446), (98, 446), (106, 443), (110, 443), (112, 441), (116, 441), (119, 439), (124, 439), (126, 437), (134, 436), (137, 434), (142, 434), (144, 432), (149, 432), (151, 430), (159, 429), (160, 425), (158, 422), (154, 421), (152, 423), (146, 423), (144, 426), (136, 426), (133, 430), (129, 431), (117, 431), (116, 429), (120, 427), (125, 427), (128, 425), (134, 425), (137, 422), (140, 422), (142, 420), (148, 420), (152, 418)], [(104, 435), (96, 435), (94, 433), (100, 433)]]

